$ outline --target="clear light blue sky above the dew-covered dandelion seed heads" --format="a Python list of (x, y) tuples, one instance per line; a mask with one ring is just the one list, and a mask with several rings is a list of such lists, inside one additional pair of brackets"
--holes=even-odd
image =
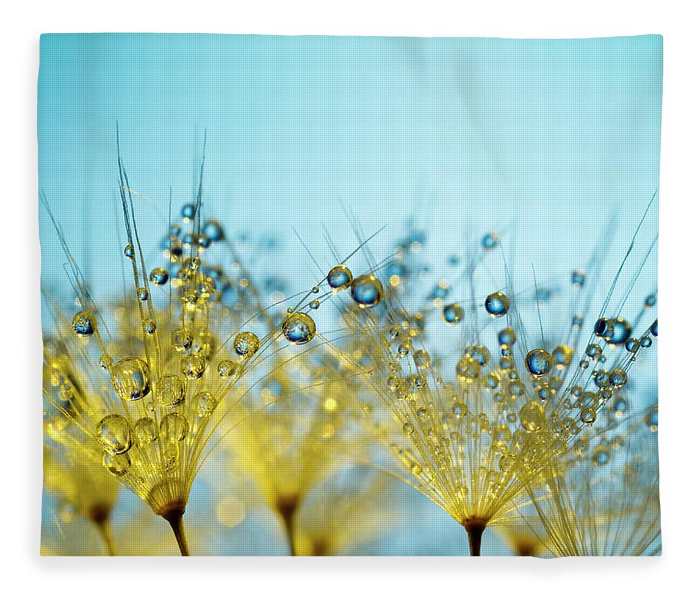
[[(658, 185), (655, 35), (44, 35), (40, 68), (40, 186), (99, 295), (120, 279), (116, 120), (131, 186), (150, 198), (136, 208), (151, 246), (169, 187), (174, 205), (194, 195), (207, 129), (208, 210), (231, 234), (281, 232), (273, 266), (295, 289), (313, 279), (291, 228), (318, 259), (322, 223), (343, 252), (354, 244), (338, 201), (366, 232), (390, 224), (372, 244), (381, 256), (411, 215), (433, 262), (511, 228), (522, 280), (531, 264), (539, 279), (584, 266), (617, 213), (612, 274)], [(40, 217), (42, 280), (55, 288), (64, 257)], [(656, 230), (652, 212), (641, 250)], [(637, 301), (655, 276), (654, 258)]]

